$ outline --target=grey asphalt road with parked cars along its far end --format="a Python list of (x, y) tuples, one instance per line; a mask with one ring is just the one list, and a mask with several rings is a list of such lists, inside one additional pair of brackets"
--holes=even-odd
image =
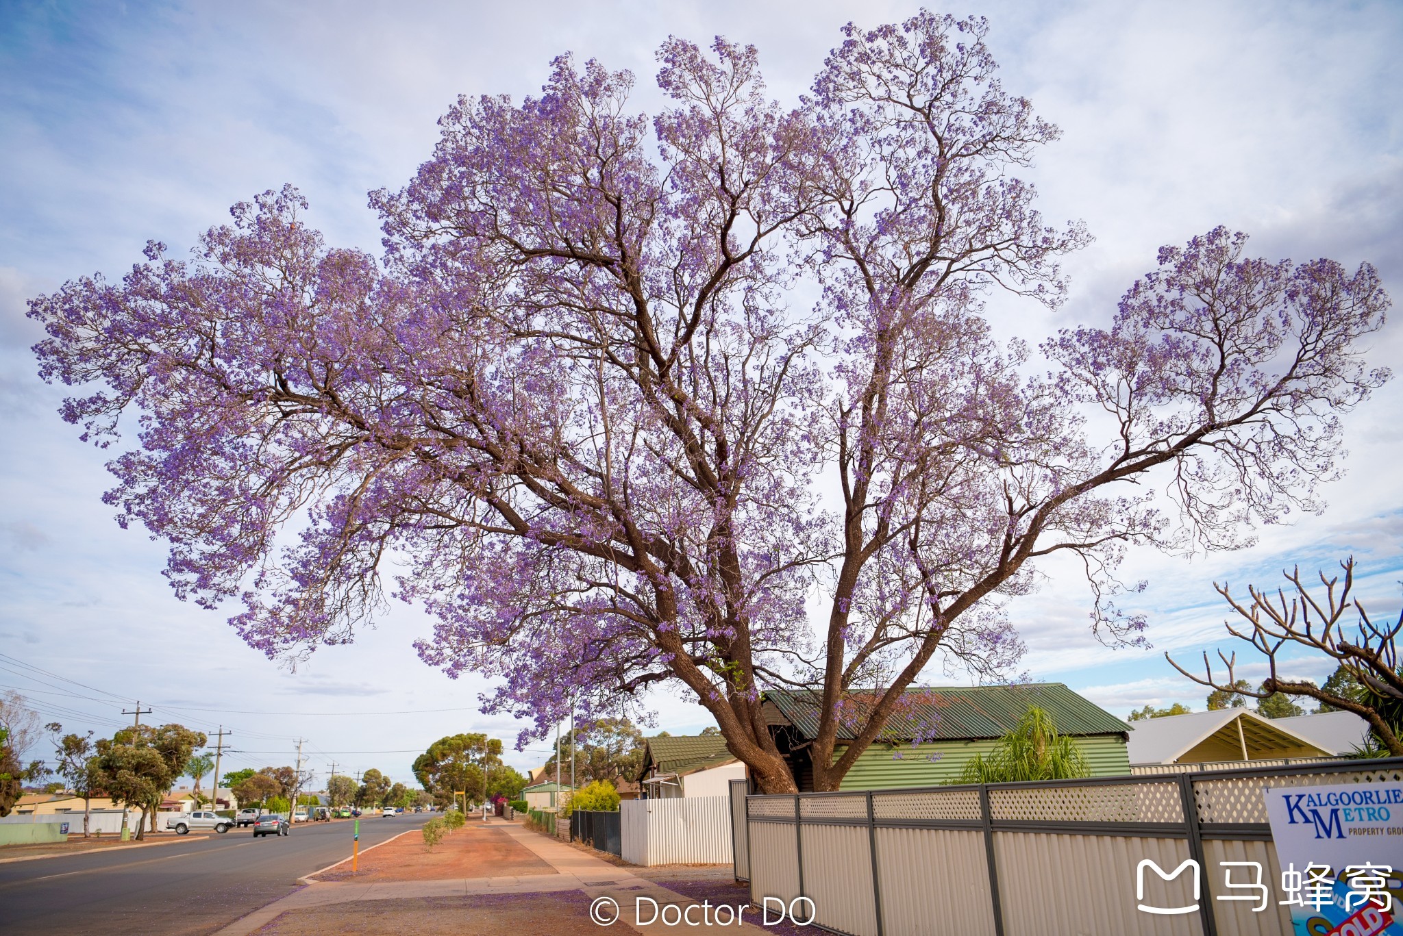
[[(429, 815), (362, 818), (361, 848)], [(175, 845), (0, 864), (0, 933), (213, 933), (351, 855), (351, 821), (253, 838), (246, 827)]]

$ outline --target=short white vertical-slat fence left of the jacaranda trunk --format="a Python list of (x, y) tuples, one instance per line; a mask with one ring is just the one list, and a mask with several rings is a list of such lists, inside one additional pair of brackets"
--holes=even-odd
[(623, 860), (631, 864), (730, 864), (731, 800), (694, 796), (619, 804)]

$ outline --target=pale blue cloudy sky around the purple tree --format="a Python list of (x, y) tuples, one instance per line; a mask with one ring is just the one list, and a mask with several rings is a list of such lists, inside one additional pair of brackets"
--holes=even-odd
[[(839, 27), (899, 20), (911, 3), (28, 3), (0, 0), (0, 686), (45, 718), (109, 733), (139, 699), (163, 721), (233, 730), (224, 765), (288, 763), (306, 738), (318, 782), (380, 768), (410, 780), (415, 752), (463, 730), (513, 738), (476, 710), (481, 685), (418, 661), (427, 619), (398, 608), (355, 644), (289, 672), (244, 647), (223, 615), (174, 599), (164, 550), (122, 532), (100, 497), (104, 456), (34, 376), (24, 302), (70, 276), (119, 276), (147, 239), (180, 253), (239, 199), (293, 182), (328, 241), (377, 250), (368, 189), (398, 187), (462, 93), (539, 90), (572, 51), (640, 76), (669, 34), (716, 34), (760, 49), (770, 93), (803, 93)], [(1096, 243), (1068, 264), (1072, 296), (1048, 313), (995, 303), (1006, 335), (1037, 342), (1104, 323), (1155, 250), (1215, 225), (1273, 260), (1374, 262), (1403, 292), (1403, 6), (1181, 1), (967, 3), (991, 21), (1007, 88), (1063, 129), (1031, 170), (1051, 219), (1083, 219)], [(1372, 362), (1396, 366), (1396, 326)], [(1403, 592), (1403, 383), (1347, 421), (1348, 477), (1329, 509), (1257, 546), (1191, 560), (1135, 553), (1132, 606), (1150, 651), (1111, 651), (1087, 630), (1075, 570), (1010, 606), (1034, 679), (1062, 681), (1115, 713), (1202, 692), (1163, 651), (1221, 644), (1212, 582), (1273, 584), (1282, 567), (1354, 554), (1376, 615)], [(1222, 644), (1226, 646), (1226, 644)], [(1301, 672), (1326, 669), (1303, 661)], [(1260, 672), (1247, 669), (1260, 678)], [(940, 672), (927, 682), (941, 682)], [(699, 730), (697, 707), (658, 697), (657, 726)], [(544, 742), (508, 759), (540, 763)], [(36, 755), (46, 752), (36, 751)]]

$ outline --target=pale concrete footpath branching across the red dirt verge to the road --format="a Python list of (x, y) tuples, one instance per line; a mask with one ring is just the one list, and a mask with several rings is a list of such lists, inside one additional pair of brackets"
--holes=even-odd
[[(247, 916), (220, 929), (216, 936), (248, 936), (267, 926), (279, 915), (313, 907), (327, 907), (331, 904), (345, 904), (354, 901), (404, 900), (422, 897), (469, 897), (478, 894), (543, 894), (550, 891), (581, 891), (591, 901), (599, 897), (613, 898), (620, 905), (620, 915), (624, 923), (633, 926), (644, 936), (675, 935), (678, 926), (662, 923), (661, 912), (658, 921), (647, 926), (633, 923), (636, 900), (645, 897), (657, 901), (658, 907), (676, 904), (682, 909), (699, 905), (689, 897), (671, 891), (647, 878), (638, 877), (626, 867), (610, 864), (591, 856), (581, 849), (572, 848), (558, 839), (532, 832), (516, 822), (490, 820), (488, 825), (501, 829), (518, 845), (533, 852), (543, 862), (556, 869), (554, 874), (532, 874), (521, 877), (470, 877), (436, 881), (382, 881), (358, 884), (354, 881), (317, 881), (302, 890), (293, 891), (281, 901), (248, 914)], [(327, 869), (323, 869), (327, 870)], [(607, 911), (613, 915), (613, 911)], [(651, 914), (651, 911), (648, 911)], [(697, 916), (697, 914), (693, 914)], [(718, 932), (723, 928), (716, 928)], [(709, 926), (686, 926), (685, 932), (711, 932)], [(724, 928), (727, 933), (745, 933), (759, 936), (765, 930), (751, 923)]]

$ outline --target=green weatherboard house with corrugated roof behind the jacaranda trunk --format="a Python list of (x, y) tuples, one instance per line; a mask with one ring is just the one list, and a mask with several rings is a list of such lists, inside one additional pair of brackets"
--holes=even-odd
[[(765, 693), (763, 704), (770, 734), (800, 790), (814, 789), (810, 748), (818, 734), (818, 706), (811, 699), (808, 693), (774, 690)], [(884, 790), (955, 780), (965, 762), (989, 754), (1028, 706), (1045, 710), (1061, 734), (1076, 740), (1092, 776), (1131, 772), (1125, 747), (1131, 727), (1061, 682), (908, 689), (906, 700), (906, 710), (894, 716), (882, 737), (857, 758), (840, 789)], [(926, 740), (912, 745), (918, 734)], [(835, 759), (845, 751), (842, 728), (838, 737)]]

